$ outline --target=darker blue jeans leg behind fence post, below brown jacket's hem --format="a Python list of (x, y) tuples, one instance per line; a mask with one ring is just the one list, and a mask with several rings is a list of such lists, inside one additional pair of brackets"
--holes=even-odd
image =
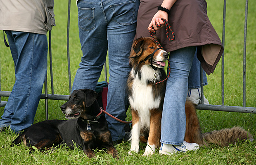
[[(201, 63), (197, 59), (197, 51), (194, 54), (193, 63), (188, 76), (188, 89), (195, 89), (201, 87)], [(203, 71), (203, 85), (207, 85), (207, 77), (205, 71)]]

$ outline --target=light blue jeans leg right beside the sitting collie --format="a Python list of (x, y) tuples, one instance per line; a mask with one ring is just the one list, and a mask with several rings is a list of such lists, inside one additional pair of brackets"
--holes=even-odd
[(196, 47), (186, 47), (170, 52), (170, 77), (166, 84), (161, 125), (161, 143), (183, 144), (186, 130), (185, 101), (188, 76)]

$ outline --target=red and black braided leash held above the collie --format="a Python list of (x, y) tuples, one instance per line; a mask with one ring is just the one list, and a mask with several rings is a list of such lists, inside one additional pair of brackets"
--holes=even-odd
[[(164, 22), (165, 27), (166, 27), (166, 37), (168, 38), (169, 41), (173, 41), (173, 40), (175, 39), (175, 36), (174, 36), (173, 30), (171, 29), (171, 26), (169, 25), (168, 21), (166, 21), (166, 19), (161, 18), (161, 20)], [(161, 24), (158, 25), (158, 24), (156, 23), (156, 27), (161, 27)], [(152, 26), (151, 28), (154, 29), (153, 26)], [(172, 38), (171, 38), (171, 39), (170, 39), (170, 37), (169, 37), (169, 31), (170, 31), (171, 34), (172, 34)], [(149, 33), (150, 33), (150, 36), (152, 37), (152, 39), (154, 39), (154, 41), (160, 46), (160, 48), (164, 49), (163, 46), (161, 46), (161, 44), (159, 43), (159, 41), (157, 41), (157, 40), (154, 38), (154, 35), (156, 34), (156, 30), (154, 30), (154, 32), (149, 32)], [(159, 83), (161, 83), (161, 82), (164, 82), (164, 81), (166, 81), (166, 80), (169, 78), (170, 73), (171, 73), (171, 65), (170, 65), (170, 62), (169, 62), (169, 57), (168, 57), (168, 68), (169, 68), (169, 69), (168, 69), (169, 71), (168, 71), (168, 76), (166, 77), (166, 79), (164, 79), (164, 80), (162, 80), (162, 81), (160, 81), (160, 82), (156, 82), (156, 83), (154, 83), (154, 85), (159, 84)]]

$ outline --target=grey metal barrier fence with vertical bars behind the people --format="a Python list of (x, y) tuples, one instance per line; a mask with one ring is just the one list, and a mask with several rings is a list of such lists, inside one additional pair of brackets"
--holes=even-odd
[[(69, 94), (71, 94), (71, 76), (70, 76), (70, 58), (69, 58), (69, 23), (70, 23), (70, 2), (68, 5), (68, 25), (67, 25), (67, 61), (68, 61), (68, 74), (69, 74)], [(204, 104), (204, 88), (203, 83), (201, 83), (201, 99), (202, 103), (197, 105), (196, 108), (200, 110), (215, 110), (215, 111), (226, 111), (226, 112), (244, 112), (244, 113), (256, 113), (256, 108), (246, 107), (246, 41), (247, 41), (247, 17), (248, 17), (248, 0), (245, 2), (245, 19), (244, 19), (244, 60), (243, 60), (243, 106), (227, 106), (224, 105), (224, 52), (222, 55), (222, 64), (221, 64), (221, 105), (205, 105)], [(226, 20), (226, 0), (224, 0), (223, 5), (223, 31), (222, 31), (222, 43), (223, 47), (225, 46), (225, 20)], [(225, 50), (225, 47), (224, 47)], [(51, 50), (51, 32), (49, 32), (49, 56), (50, 56), (50, 76), (51, 76), (51, 94), (48, 94), (47, 91), (47, 76), (45, 78), (45, 94), (41, 95), (41, 99), (45, 99), (45, 118), (48, 119), (48, 99), (51, 100), (69, 100), (69, 95), (59, 95), (54, 94), (53, 87), (53, 76), (52, 76), (52, 50)], [(105, 81), (107, 81), (107, 66), (104, 64), (105, 71)], [(1, 76), (0, 76), (1, 80)], [(203, 71), (201, 69), (201, 82), (203, 82)], [(8, 97), (11, 92), (1, 91), (1, 81), (0, 81), (0, 107), (6, 105), (6, 101), (1, 101), (1, 96)]]

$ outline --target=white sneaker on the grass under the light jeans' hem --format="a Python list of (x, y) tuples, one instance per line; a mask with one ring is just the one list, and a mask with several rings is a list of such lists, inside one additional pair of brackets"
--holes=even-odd
[(176, 152), (187, 152), (187, 151), (195, 151), (199, 149), (199, 145), (197, 143), (188, 143), (183, 141), (182, 145), (173, 145), (173, 144), (161, 144), (159, 154), (162, 155), (171, 155)]

